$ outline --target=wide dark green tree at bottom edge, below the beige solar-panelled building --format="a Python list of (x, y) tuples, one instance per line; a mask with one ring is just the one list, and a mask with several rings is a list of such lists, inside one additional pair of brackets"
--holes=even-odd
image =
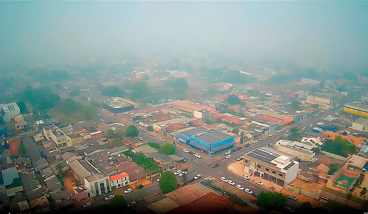
[(261, 192), (257, 197), (257, 206), (276, 210), (287, 203), (287, 196), (277, 192)]

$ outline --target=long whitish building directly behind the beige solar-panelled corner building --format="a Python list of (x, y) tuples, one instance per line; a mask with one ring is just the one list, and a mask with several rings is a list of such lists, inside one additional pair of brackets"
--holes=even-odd
[[(301, 158), (303, 161), (313, 161), (316, 156), (316, 152), (313, 150), (305, 149), (304, 147), (298, 145), (293, 146), (285, 145), (286, 143), (280, 143), (280, 141), (286, 140), (282, 139), (276, 142), (274, 149), (278, 151), (282, 151), (284, 153), (297, 156), (298, 158)], [(291, 142), (290, 144), (292, 144), (292, 141), (291, 140), (289, 141)]]

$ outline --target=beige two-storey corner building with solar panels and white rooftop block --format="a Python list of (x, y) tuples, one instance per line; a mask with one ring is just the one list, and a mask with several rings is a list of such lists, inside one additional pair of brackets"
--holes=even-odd
[(295, 156), (261, 147), (243, 156), (244, 171), (285, 186), (297, 178), (299, 162), (293, 161)]

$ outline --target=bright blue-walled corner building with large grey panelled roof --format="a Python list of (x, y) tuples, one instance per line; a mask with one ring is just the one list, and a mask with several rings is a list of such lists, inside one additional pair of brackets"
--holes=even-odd
[[(182, 138), (186, 139), (183, 140)], [(179, 133), (179, 141), (198, 150), (204, 150), (209, 155), (234, 147), (234, 137), (222, 132), (198, 127)]]

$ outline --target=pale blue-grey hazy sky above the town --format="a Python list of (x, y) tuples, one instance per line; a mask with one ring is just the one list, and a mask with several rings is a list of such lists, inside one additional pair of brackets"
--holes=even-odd
[(360, 65), (367, 20), (367, 1), (1, 1), (0, 63), (183, 51)]

